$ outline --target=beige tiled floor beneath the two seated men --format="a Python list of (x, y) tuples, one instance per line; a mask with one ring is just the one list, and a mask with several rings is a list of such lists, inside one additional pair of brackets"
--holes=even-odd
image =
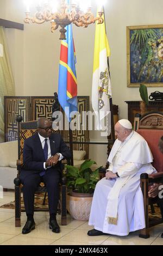
[[(4, 192), (0, 205), (14, 200), (14, 192)], [(68, 225), (60, 226), (59, 234), (48, 228), (48, 212), (35, 212), (36, 229), (22, 235), (22, 227), (26, 222), (26, 214), (22, 213), (22, 227), (15, 228), (14, 210), (0, 209), (0, 245), (163, 245), (160, 234), (163, 224), (151, 228), (149, 239), (139, 238), (139, 231), (128, 236), (87, 236), (87, 230), (93, 228), (85, 221), (76, 221), (68, 216)], [(60, 224), (60, 216), (57, 216)]]

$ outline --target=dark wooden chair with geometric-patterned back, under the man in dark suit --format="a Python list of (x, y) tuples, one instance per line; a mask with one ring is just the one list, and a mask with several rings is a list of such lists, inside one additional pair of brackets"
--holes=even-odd
[[(29, 138), (30, 136), (34, 135), (37, 130), (36, 121), (28, 121), (21, 123), (22, 117), (17, 117), (18, 122), (18, 160), (17, 160), (17, 178), (14, 179), (15, 184), (15, 227), (21, 227), (21, 180), (20, 180), (20, 172), (23, 163), (23, 145), (24, 139)], [(61, 164), (62, 165), (62, 164)], [(59, 208), (58, 212), (61, 213), (61, 225), (67, 225), (67, 210), (66, 210), (66, 180), (62, 178), (61, 186), (60, 186), (60, 200), (59, 200)], [(38, 192), (45, 192), (45, 197), (43, 199), (43, 204), (45, 205), (46, 199), (46, 186), (40, 184), (37, 188), (36, 193)], [(35, 209), (35, 211), (45, 211), (43, 209)]]

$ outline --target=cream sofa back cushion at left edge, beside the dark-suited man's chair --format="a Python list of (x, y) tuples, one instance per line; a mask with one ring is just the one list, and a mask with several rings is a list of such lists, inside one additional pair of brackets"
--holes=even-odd
[(0, 167), (16, 168), (17, 141), (0, 143)]

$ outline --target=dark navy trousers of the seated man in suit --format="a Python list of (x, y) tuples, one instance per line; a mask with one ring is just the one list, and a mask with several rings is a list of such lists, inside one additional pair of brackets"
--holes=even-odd
[[(28, 172), (28, 170), (27, 170)], [(57, 169), (47, 169), (42, 177), (39, 173), (22, 175), (23, 199), (26, 214), (34, 214), (34, 194), (40, 182), (44, 182), (48, 193), (49, 214), (57, 214), (59, 200), (60, 172)]]

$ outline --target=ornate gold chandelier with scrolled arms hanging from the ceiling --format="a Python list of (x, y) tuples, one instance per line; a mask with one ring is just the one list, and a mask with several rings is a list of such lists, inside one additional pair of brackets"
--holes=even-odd
[[(51, 22), (51, 32), (54, 32), (60, 26), (61, 40), (66, 39), (65, 27), (71, 23), (77, 27), (86, 28), (90, 24), (95, 23), (95, 21), (98, 21), (98, 24), (102, 24), (104, 21), (102, 18), (103, 8), (99, 9), (98, 17), (94, 17), (91, 12), (91, 1), (89, 0), (72, 0), (71, 6), (67, 4), (66, 0), (35, 0), (35, 2), (36, 13), (33, 17), (30, 17), (30, 0), (26, 0), (27, 8), (24, 23), (42, 24), (49, 21)], [(60, 8), (58, 8), (59, 2)], [(85, 10), (82, 8), (83, 4), (85, 4)]]

